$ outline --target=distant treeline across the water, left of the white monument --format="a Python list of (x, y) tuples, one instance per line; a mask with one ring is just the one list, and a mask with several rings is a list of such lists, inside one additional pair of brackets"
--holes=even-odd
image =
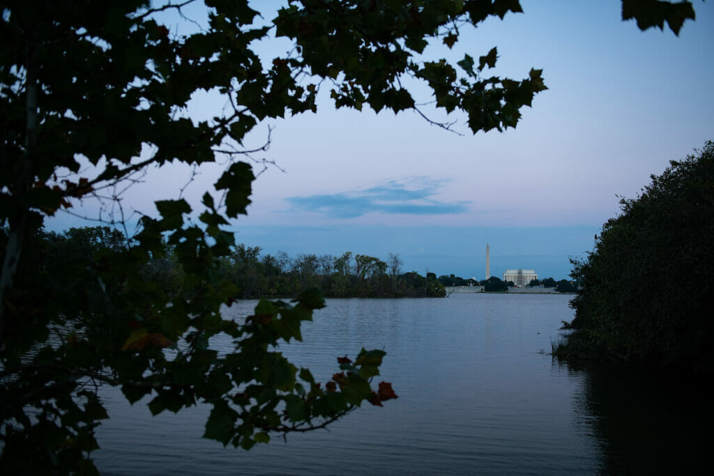
[[(41, 240), (46, 263), (81, 261), (101, 265), (101, 253), (126, 250), (124, 234), (107, 226), (70, 228), (64, 233), (43, 232)], [(348, 251), (341, 256), (298, 254), (283, 251), (261, 253), (259, 246), (238, 244), (228, 257), (217, 258), (218, 273), (236, 285), (235, 298), (293, 297), (309, 288), (319, 288), (331, 298), (443, 297), (443, 285), (434, 273), (426, 277), (403, 273), (403, 261), (390, 253), (386, 261)], [(94, 259), (93, 257), (97, 257)], [(164, 253), (149, 260), (142, 278), (171, 294), (183, 291), (187, 279), (175, 250), (164, 245)]]

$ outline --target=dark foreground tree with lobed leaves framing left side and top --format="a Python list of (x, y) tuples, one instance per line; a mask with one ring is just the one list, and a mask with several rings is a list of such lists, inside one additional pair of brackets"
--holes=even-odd
[[(287, 0), (267, 21), (247, 0), (204, 3), (207, 23), (181, 34), (163, 15), (190, 26), (182, 9), (197, 0), (1, 6), (3, 472), (28, 464), (41, 473), (91, 472), (94, 428), (106, 417), (99, 383), (121, 387), (130, 402), (148, 396), (154, 413), (208, 402), (205, 436), (245, 448), (270, 432), (321, 427), (364, 400), (393, 397), (386, 383), (369, 385), (380, 351), (341, 362), (346, 373), (321, 388), (275, 350), (300, 338), (299, 324), (322, 305), (316, 293), (261, 301), (245, 322), (223, 319), (236, 284), (221, 263), (240, 252), (227, 227), (246, 213), (255, 178), (246, 134), (271, 118), (316, 111), (321, 88), (336, 107), (421, 113), (406, 80), (426, 84), (441, 111), (465, 114), (474, 133), (501, 131), (545, 89), (538, 69), (524, 79), (489, 76), (498, 59), (490, 46), (455, 65), (420, 56), (428, 41), (453, 46), (466, 24), (521, 11), (517, 0)], [(676, 32), (693, 18), (642, 4), (623, 1), (623, 16), (640, 27), (665, 20)], [(263, 63), (254, 46), (271, 35), (295, 48)], [(227, 107), (191, 118), (198, 91), (221, 95)], [(125, 223), (121, 192), (150, 166), (174, 161), (228, 165), (200, 205), (157, 201), (158, 214), (141, 216), (121, 247), (90, 237), (91, 253), (49, 256), (47, 217), (78, 213), (96, 198), (101, 221)], [(180, 293), (149, 267), (157, 258), (184, 273)], [(235, 340), (234, 353), (208, 348), (218, 333)]]

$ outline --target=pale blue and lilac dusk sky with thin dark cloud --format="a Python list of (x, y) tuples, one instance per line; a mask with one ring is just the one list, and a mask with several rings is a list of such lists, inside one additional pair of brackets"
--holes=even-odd
[[(251, 6), (269, 19), (280, 3)], [(261, 146), (272, 128), (270, 147), (253, 157), (277, 166), (253, 183), (248, 216), (231, 223), (236, 240), (292, 256), (398, 253), (405, 271), (478, 279), (489, 243), (493, 275), (524, 268), (566, 278), (569, 258), (593, 249), (620, 197), (637, 196), (650, 174), (714, 139), (714, 2), (695, 0), (697, 19), (679, 36), (621, 21), (618, 0), (521, 4), (523, 14), (463, 28), (451, 51), (426, 51), (455, 62), (497, 46), (494, 74), (523, 79), (543, 69), (548, 90), (521, 110), (516, 129), (473, 135), (464, 116), (424, 108), (456, 121), (458, 135), (411, 111), (335, 110), (324, 94), (318, 113), (251, 132), (246, 146)], [(260, 48), (268, 57), (290, 45)], [(417, 102), (431, 100), (423, 92)], [(198, 95), (191, 107), (202, 116), (223, 103)], [(198, 203), (222, 170), (201, 169), (183, 196)], [(149, 199), (176, 198), (190, 176), (183, 166), (150, 171), (125, 203), (156, 214)], [(80, 224), (59, 215), (49, 227)]]

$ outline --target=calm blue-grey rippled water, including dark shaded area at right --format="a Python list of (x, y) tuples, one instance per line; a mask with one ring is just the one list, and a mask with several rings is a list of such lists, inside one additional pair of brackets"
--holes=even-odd
[[(544, 352), (570, 320), (565, 295), (328, 300), (304, 343), (283, 345), (325, 382), (336, 358), (387, 351), (379, 380), (398, 400), (330, 430), (249, 452), (201, 439), (210, 407), (152, 417), (108, 390), (94, 454), (104, 474), (596, 474), (695, 470), (710, 397), (676, 378), (578, 370)], [(255, 301), (226, 310), (236, 319)], [(228, 348), (228, 341), (211, 342)], [(379, 381), (378, 380), (378, 381)], [(683, 386), (684, 385), (684, 386)], [(653, 397), (654, 396), (654, 397)], [(148, 400), (146, 400), (148, 401)]]

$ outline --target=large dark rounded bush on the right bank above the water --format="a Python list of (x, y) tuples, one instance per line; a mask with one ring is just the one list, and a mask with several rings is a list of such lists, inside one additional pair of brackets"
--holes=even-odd
[(582, 288), (560, 354), (713, 370), (714, 143), (620, 208), (593, 252), (573, 260)]

